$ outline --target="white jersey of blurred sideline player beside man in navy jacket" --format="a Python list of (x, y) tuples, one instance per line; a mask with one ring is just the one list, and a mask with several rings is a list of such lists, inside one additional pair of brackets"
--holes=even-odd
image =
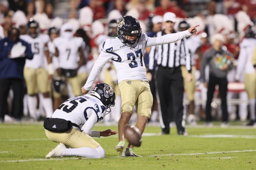
[(31, 44), (31, 50), (34, 54), (32, 60), (26, 59), (25, 67), (28, 68), (40, 68), (44, 67), (44, 44), (50, 41), (49, 35), (39, 34), (36, 38), (32, 38), (30, 35), (20, 35), (20, 38), (29, 44)]

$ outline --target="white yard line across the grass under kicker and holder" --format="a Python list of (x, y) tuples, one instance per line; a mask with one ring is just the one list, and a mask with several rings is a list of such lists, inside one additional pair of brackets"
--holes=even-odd
[[(160, 156), (183, 156), (183, 155), (203, 155), (203, 154), (218, 154), (218, 153), (236, 153), (236, 152), (256, 152), (256, 150), (244, 151), (223, 151), (223, 152), (205, 152), (205, 153), (184, 153), (184, 154), (165, 154), (165, 155), (148, 155), (144, 157), (160, 157)], [(120, 156), (112, 156), (108, 158), (119, 158)], [(223, 157), (222, 159), (229, 159), (232, 157)], [(20, 159), (20, 160), (1, 160), (0, 162), (28, 162), (28, 161), (48, 161), (48, 160), (69, 160), (69, 159), (88, 159), (88, 158), (51, 158), (51, 159)], [(215, 159), (215, 158), (212, 158)], [(219, 159), (219, 158), (216, 158)]]

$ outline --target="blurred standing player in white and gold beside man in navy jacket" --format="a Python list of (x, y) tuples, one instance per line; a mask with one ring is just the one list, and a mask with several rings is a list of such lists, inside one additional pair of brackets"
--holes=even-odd
[[(51, 117), (53, 113), (52, 99), (50, 98), (49, 79), (52, 78), (53, 68), (52, 61), (48, 50), (49, 36), (39, 33), (39, 25), (36, 21), (28, 22), (28, 34), (21, 35), (20, 38), (31, 44), (31, 49), (34, 54), (32, 60), (26, 60), (24, 68), (24, 78), (27, 85), (28, 93), (28, 110), (33, 119), (37, 119), (36, 115), (36, 94), (41, 92), (44, 96), (43, 107), (46, 112), (46, 117)], [(44, 57), (48, 62), (48, 73), (44, 68)], [(48, 77), (48, 75), (50, 75)], [(38, 90), (38, 91), (37, 91)]]

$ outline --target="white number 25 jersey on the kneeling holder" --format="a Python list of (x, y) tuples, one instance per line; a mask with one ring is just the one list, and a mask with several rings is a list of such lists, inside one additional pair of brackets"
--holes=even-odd
[(65, 119), (82, 126), (81, 129), (88, 135), (94, 124), (101, 121), (105, 115), (106, 107), (102, 102), (92, 95), (85, 94), (66, 100), (54, 111), (52, 117)]

